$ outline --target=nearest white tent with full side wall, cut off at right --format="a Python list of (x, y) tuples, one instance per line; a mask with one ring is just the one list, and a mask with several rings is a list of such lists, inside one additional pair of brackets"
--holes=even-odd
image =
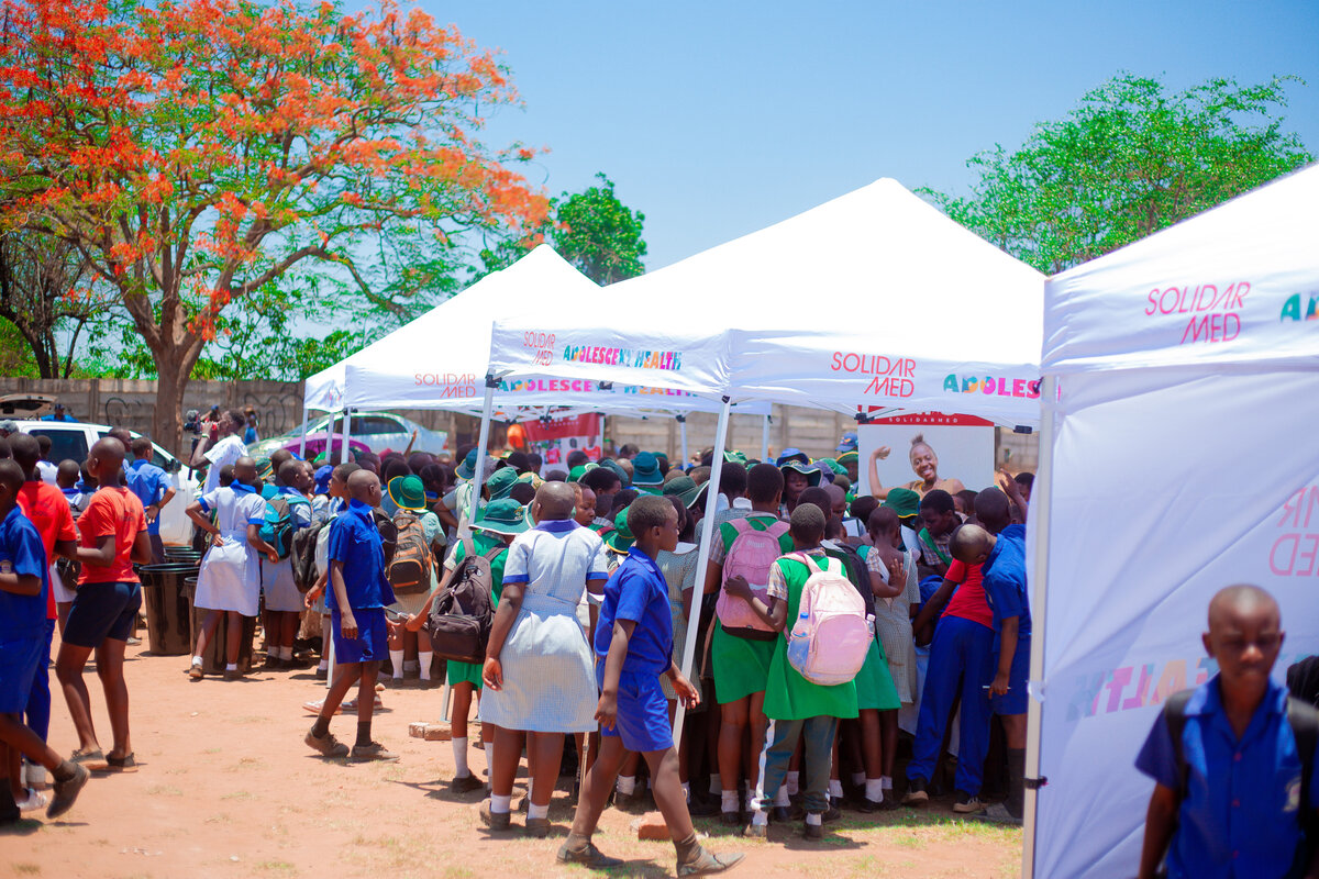
[(1133, 762), (1215, 672), (1216, 590), (1278, 598), (1277, 680), (1319, 650), (1316, 204), (1312, 166), (1047, 283), (1026, 875), (1136, 872)]

